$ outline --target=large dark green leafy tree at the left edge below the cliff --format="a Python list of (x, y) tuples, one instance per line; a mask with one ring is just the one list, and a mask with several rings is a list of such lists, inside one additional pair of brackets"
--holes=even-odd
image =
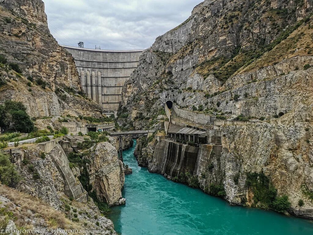
[(35, 128), (34, 123), (26, 113), (26, 107), (21, 102), (11, 100), (0, 105), (0, 126), (23, 133), (30, 133)]

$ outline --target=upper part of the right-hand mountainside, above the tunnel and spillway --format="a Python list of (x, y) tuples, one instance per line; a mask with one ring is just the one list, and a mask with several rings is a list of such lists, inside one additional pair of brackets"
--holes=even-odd
[(167, 99), (228, 117), (292, 110), (300, 91), (288, 78), (305, 88), (310, 80), (305, 65), (312, 64), (311, 19), (306, 18), (311, 9), (311, 1), (200, 3), (143, 53), (123, 88), (120, 113), (129, 112), (128, 122), (139, 128), (153, 125), (149, 118)]

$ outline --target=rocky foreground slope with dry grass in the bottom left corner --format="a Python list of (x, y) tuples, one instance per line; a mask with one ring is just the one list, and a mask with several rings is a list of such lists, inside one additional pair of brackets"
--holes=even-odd
[[(70, 190), (71, 186), (66, 182), (69, 179), (64, 179), (61, 170), (57, 168), (53, 159), (54, 153), (51, 157), (50, 154), (45, 154), (38, 145), (24, 148), (24, 160), (16, 167), (23, 176), (18, 185), (19, 191), (0, 185), (0, 201), (3, 202), (1, 207), (5, 211), (10, 211), (14, 205), (21, 206), (23, 209), (15, 210), (16, 214), (12, 217), (13, 219), (11, 218), (12, 226), (20, 228), (25, 225), (25, 221), (29, 221), (29, 228), (59, 227), (82, 230), (103, 228), (116, 234), (112, 221), (102, 216), (91, 198), (82, 203), (64, 195), (64, 192)], [(58, 148), (55, 151), (60, 150)], [(69, 166), (66, 169), (69, 169)], [(73, 180), (77, 181), (74, 182), (74, 187), (81, 187), (77, 178)], [(37, 219), (38, 215), (40, 220)]]

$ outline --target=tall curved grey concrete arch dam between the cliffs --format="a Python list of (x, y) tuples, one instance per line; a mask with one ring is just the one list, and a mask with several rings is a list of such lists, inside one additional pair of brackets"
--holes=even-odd
[(122, 87), (139, 64), (143, 50), (95, 50), (62, 45), (75, 61), (87, 97), (104, 113), (118, 110)]

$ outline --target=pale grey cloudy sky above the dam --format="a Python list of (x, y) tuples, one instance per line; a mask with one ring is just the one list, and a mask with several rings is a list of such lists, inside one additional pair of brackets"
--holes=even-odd
[(59, 44), (145, 49), (185, 21), (203, 0), (43, 0)]

